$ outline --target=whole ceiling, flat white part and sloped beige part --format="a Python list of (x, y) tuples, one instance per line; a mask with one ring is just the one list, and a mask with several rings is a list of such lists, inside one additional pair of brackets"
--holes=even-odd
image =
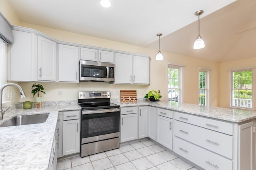
[[(217, 62), (256, 57), (256, 0), (110, 1), (112, 6), (103, 8), (100, 0), (9, 0), (26, 23), (148, 47), (156, 53), (156, 34), (162, 33), (161, 51)], [(197, 10), (204, 10), (200, 35), (206, 47), (194, 50)]]

